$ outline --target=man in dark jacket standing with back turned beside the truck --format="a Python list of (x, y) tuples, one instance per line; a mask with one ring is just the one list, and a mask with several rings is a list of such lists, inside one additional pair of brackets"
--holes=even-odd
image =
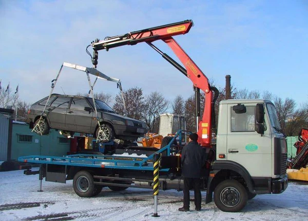
[(198, 144), (198, 135), (190, 134), (189, 143), (182, 150), (182, 176), (184, 177), (184, 206), (180, 211), (189, 211), (189, 190), (194, 188), (196, 210), (201, 210), (201, 168), (205, 164), (205, 152)]

